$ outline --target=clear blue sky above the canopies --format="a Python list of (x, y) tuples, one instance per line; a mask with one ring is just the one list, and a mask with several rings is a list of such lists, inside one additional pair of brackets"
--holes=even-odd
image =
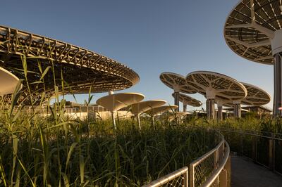
[[(219, 72), (274, 92), (273, 66), (254, 63), (226, 45), (223, 26), (238, 0), (49, 0), (3, 1), (0, 25), (40, 34), (89, 49), (137, 72), (130, 89), (145, 100), (173, 105), (172, 89), (161, 72), (186, 76), (197, 70)], [(94, 93), (92, 103), (108, 93)], [(199, 93), (190, 96), (205, 103)], [(76, 96), (84, 103), (87, 95)], [(75, 101), (73, 96), (66, 97)], [(267, 105), (272, 108), (271, 102)], [(188, 110), (193, 110), (188, 106)]]

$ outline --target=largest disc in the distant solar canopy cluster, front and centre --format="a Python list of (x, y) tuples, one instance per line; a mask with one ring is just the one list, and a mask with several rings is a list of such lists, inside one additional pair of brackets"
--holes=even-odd
[(196, 71), (187, 75), (188, 84), (206, 98), (221, 101), (241, 101), (247, 96), (247, 89), (235, 79), (216, 72)]

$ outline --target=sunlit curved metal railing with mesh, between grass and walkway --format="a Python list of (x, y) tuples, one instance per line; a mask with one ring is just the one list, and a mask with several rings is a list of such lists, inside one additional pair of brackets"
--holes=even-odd
[(230, 186), (230, 148), (221, 136), (220, 143), (208, 153), (166, 176), (152, 181), (143, 187), (158, 186)]

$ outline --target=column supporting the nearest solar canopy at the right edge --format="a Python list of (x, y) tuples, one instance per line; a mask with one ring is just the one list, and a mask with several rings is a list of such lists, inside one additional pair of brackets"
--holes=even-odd
[(281, 56), (279, 53), (274, 55), (274, 117), (281, 117)]

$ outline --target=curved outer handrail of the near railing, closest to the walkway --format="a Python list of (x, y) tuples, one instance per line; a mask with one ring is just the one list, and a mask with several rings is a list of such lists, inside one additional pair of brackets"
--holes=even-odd
[(224, 144), (226, 146), (226, 150), (224, 153), (224, 160), (223, 162), (221, 162), (219, 167), (214, 171), (214, 174), (212, 174), (212, 176), (203, 184), (203, 186), (207, 186), (207, 187), (212, 186), (212, 183), (214, 183), (216, 178), (219, 177), (219, 174), (221, 174), (222, 169), (225, 167), (230, 154), (230, 147), (226, 141), (224, 141)]

